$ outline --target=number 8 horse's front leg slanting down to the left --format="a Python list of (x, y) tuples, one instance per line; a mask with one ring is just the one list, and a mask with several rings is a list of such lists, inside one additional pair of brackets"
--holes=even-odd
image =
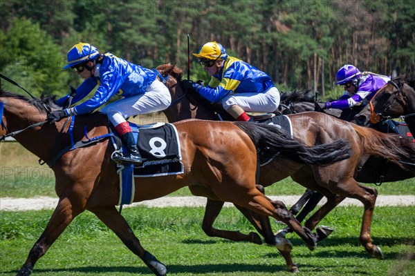
[(17, 272), (17, 276), (30, 275), (37, 260), (46, 254), (46, 251), (50, 248), (50, 246), (52, 246), (59, 235), (64, 232), (66, 226), (68, 226), (71, 221), (83, 211), (84, 210), (81, 208), (75, 208), (68, 198), (59, 200), (59, 203), (53, 211), (52, 217), (50, 217), (44, 232), (33, 245), (26, 262)]

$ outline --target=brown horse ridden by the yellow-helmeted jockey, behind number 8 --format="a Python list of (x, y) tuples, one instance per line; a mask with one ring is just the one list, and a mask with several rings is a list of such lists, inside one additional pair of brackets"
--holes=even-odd
[[(169, 121), (178, 121), (187, 118), (215, 119), (213, 113), (203, 104), (198, 104), (194, 95), (183, 93), (178, 80), (181, 79), (181, 70), (170, 65), (159, 66), (162, 75), (171, 75), (167, 79), (167, 87), (172, 92), (172, 105), (165, 111)], [(289, 116), (293, 123), (293, 136), (295, 139), (304, 141), (307, 145), (316, 145), (333, 141), (342, 137), (349, 141), (353, 149), (353, 157), (340, 161), (330, 166), (302, 166), (287, 164), (284, 159), (275, 157), (273, 161), (261, 166), (259, 184), (269, 186), (281, 179), (291, 176), (297, 183), (317, 190), (328, 199), (327, 203), (306, 221), (306, 226), (313, 229), (318, 221), (329, 213), (345, 197), (358, 199), (365, 206), (362, 228), (360, 232), (360, 242), (367, 252), (377, 258), (382, 258), (382, 252), (378, 246), (372, 244), (370, 237), (371, 218), (374, 211), (377, 191), (358, 184), (354, 175), (362, 166), (362, 160), (366, 160), (369, 155), (387, 158), (401, 167), (400, 160), (407, 161), (415, 155), (413, 145), (403, 145), (400, 147), (398, 135), (386, 135), (370, 128), (363, 128), (347, 121), (342, 121), (330, 115), (320, 112), (304, 112)], [(410, 152), (410, 154), (408, 153)], [(252, 235), (242, 235), (235, 231), (222, 231), (212, 227), (214, 219), (219, 215), (223, 202), (208, 199), (203, 219), (203, 230), (208, 235), (224, 237), (232, 240), (252, 241)], [(241, 209), (240, 209), (241, 210)], [(245, 213), (244, 213), (245, 214)], [(245, 214), (246, 215), (246, 214)], [(255, 221), (248, 217), (250, 221)], [(268, 226), (257, 225), (257, 230), (261, 234), (267, 235)]]

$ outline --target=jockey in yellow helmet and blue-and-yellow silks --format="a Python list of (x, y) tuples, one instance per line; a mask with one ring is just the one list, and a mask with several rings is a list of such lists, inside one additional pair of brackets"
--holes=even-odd
[(279, 106), (279, 91), (266, 73), (226, 54), (216, 41), (203, 45), (197, 54), (204, 70), (211, 77), (208, 86), (183, 80), (186, 89), (196, 92), (223, 108), (237, 121), (252, 121), (248, 112), (273, 112)]

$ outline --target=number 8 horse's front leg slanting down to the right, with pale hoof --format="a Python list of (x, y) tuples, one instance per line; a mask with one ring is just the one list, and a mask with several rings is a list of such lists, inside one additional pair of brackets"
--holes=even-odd
[(107, 208), (92, 209), (93, 212), (105, 225), (108, 226), (121, 239), (121, 241), (133, 252), (138, 255), (151, 271), (157, 276), (167, 275), (167, 268), (160, 263), (156, 257), (142, 248), (140, 241), (134, 235), (127, 221), (118, 213), (114, 206)]

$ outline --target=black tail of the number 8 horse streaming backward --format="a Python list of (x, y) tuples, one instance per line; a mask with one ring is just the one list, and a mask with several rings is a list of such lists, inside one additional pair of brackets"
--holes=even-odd
[(235, 122), (252, 139), (259, 150), (279, 153), (301, 164), (328, 165), (351, 157), (351, 148), (344, 139), (329, 144), (305, 146), (286, 131), (272, 125)]

